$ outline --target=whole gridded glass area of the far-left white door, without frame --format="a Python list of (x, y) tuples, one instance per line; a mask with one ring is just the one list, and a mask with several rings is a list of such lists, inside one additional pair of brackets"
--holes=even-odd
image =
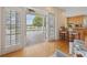
[(6, 15), (6, 43), (18, 44), (20, 39), (20, 22), (17, 11), (9, 11)]

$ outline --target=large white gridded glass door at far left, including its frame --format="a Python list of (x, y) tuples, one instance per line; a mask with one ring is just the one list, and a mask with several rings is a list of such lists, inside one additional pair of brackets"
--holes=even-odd
[(21, 22), (17, 10), (3, 10), (2, 54), (14, 52), (21, 46)]

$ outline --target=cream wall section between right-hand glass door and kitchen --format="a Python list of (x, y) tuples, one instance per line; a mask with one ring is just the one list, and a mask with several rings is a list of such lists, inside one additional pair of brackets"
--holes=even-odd
[(56, 36), (56, 40), (59, 39), (59, 28), (61, 26), (66, 26), (66, 17), (65, 17), (65, 11), (61, 10), (61, 9), (57, 9), (56, 12), (55, 12), (55, 36)]

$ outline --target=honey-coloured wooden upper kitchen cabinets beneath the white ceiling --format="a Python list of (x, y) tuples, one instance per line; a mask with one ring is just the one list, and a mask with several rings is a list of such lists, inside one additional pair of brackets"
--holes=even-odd
[(87, 15), (76, 15), (67, 18), (67, 25), (72, 24), (73, 28), (87, 28)]

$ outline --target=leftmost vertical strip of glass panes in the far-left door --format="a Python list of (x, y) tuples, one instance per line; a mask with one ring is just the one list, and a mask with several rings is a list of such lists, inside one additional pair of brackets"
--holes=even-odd
[(10, 11), (7, 11), (6, 12), (6, 45), (10, 45), (11, 42), (11, 26), (10, 26), (10, 23), (11, 23), (11, 12)]

